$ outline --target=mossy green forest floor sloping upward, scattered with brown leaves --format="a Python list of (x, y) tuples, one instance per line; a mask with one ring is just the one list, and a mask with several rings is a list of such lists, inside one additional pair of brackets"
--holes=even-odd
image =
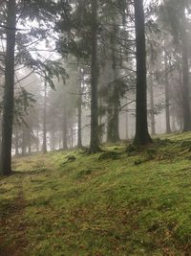
[(191, 255), (191, 133), (13, 159), (1, 256)]

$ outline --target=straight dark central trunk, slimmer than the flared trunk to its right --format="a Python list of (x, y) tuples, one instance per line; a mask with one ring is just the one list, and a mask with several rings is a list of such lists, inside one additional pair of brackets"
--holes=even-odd
[(90, 152), (99, 151), (98, 138), (98, 62), (97, 62), (97, 0), (92, 0), (92, 63), (91, 63), (91, 141)]

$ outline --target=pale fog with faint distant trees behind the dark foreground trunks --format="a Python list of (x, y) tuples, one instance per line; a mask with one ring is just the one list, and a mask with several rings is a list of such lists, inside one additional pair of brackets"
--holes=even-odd
[[(162, 5), (159, 1), (144, 2), (147, 120), (149, 133), (154, 137), (189, 130), (191, 123), (187, 112), (190, 106), (186, 105), (190, 95), (189, 10), (185, 7), (184, 12), (170, 16), (174, 8), (170, 5), (170, 1)], [(94, 61), (99, 143), (126, 142), (135, 137), (138, 59), (134, 6), (129, 3), (123, 9), (110, 3), (98, 7), (95, 60), (91, 26), (80, 8), (90, 12), (88, 6), (71, 4), (65, 13), (71, 15), (71, 25), (63, 18), (64, 9), (55, 16), (46, 11), (50, 12), (49, 18), (16, 13), (12, 154), (89, 147), (94, 127)], [(5, 9), (2, 4), (1, 12)], [(0, 32), (3, 105), (4, 26)], [(1, 121), (2, 115), (3, 111)]]

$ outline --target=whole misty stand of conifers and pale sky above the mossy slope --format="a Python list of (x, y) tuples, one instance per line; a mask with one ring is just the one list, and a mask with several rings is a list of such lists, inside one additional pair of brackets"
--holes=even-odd
[(0, 8), (1, 173), (11, 173), (11, 153), (96, 152), (135, 130), (141, 145), (151, 141), (147, 129), (191, 129), (189, 1)]

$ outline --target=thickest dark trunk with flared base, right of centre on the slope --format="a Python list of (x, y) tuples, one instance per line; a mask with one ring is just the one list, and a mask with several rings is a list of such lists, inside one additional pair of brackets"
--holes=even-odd
[(143, 1), (135, 0), (136, 46), (137, 46), (137, 110), (136, 136), (134, 144), (146, 145), (152, 142), (147, 124), (147, 94), (146, 94), (146, 47)]

